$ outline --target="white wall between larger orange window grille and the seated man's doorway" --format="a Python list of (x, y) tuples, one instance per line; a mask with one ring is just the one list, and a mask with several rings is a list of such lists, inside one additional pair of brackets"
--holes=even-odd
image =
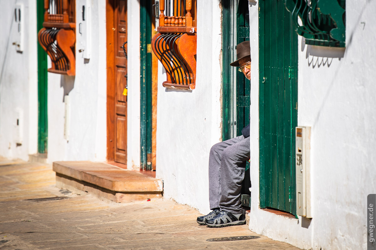
[(197, 1), (197, 75), (193, 91), (162, 86), (159, 64), (156, 175), (164, 196), (209, 211), (208, 162), (221, 139), (221, 9)]

